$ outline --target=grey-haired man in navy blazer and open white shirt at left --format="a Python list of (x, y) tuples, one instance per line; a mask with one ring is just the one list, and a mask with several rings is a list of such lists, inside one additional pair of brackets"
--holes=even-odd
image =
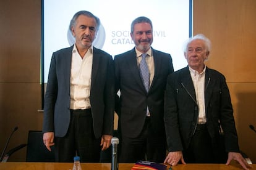
[(99, 18), (77, 12), (70, 21), (74, 46), (53, 53), (45, 94), (43, 142), (56, 161), (99, 162), (113, 136), (113, 58), (92, 42)]

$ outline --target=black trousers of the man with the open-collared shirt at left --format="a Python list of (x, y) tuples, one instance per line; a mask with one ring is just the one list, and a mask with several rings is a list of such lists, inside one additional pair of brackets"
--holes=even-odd
[(80, 162), (100, 162), (100, 141), (95, 139), (91, 110), (70, 110), (66, 136), (55, 137), (55, 159), (57, 162), (74, 162), (77, 155)]

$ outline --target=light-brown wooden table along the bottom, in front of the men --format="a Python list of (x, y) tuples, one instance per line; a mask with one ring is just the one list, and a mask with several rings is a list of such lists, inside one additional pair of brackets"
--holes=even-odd
[[(82, 170), (111, 170), (111, 163), (81, 163)], [(132, 163), (119, 163), (119, 170), (130, 170), (134, 166)], [(252, 164), (253, 168), (256, 169), (256, 164)], [(49, 169), (49, 170), (72, 170), (73, 163), (28, 163), (28, 162), (6, 162), (0, 163), (1, 170), (7, 169)], [(166, 168), (166, 170), (169, 169)], [(231, 163), (230, 165), (225, 164), (178, 164), (177, 166), (172, 166), (173, 170), (239, 170), (242, 167), (237, 163)]]

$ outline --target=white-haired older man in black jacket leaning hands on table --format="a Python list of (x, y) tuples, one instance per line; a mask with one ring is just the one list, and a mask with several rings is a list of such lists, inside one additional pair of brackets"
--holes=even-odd
[[(210, 54), (210, 40), (198, 34), (184, 50), (188, 67), (168, 77), (164, 123), (169, 154), (164, 163), (223, 163), (237, 160), (248, 165), (239, 153), (233, 107), (224, 76), (204, 64)], [(220, 145), (220, 125), (225, 148)], [(222, 149), (222, 150), (221, 150)], [(225, 151), (224, 151), (225, 150)]]

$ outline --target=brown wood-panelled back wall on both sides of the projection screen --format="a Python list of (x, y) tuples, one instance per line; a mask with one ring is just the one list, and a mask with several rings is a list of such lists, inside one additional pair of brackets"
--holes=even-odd
[[(28, 130), (42, 124), (40, 85), (41, 1), (0, 1), (0, 151), (14, 126), (9, 150), (27, 143)], [(194, 34), (213, 48), (208, 67), (228, 81), (241, 150), (256, 163), (256, 1), (194, 0)], [(23, 148), (10, 161), (25, 161)]]

